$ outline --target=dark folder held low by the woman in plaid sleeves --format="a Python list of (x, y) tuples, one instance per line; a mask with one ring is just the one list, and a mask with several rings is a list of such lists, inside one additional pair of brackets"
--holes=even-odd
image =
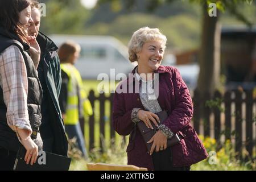
[(26, 164), (24, 158), (26, 149), (20, 146), (14, 164), (16, 171), (68, 171), (71, 164), (71, 158), (62, 155), (52, 154), (50, 152), (39, 151), (36, 163)]

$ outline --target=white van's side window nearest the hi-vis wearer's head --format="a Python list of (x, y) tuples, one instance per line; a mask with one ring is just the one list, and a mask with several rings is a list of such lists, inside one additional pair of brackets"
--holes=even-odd
[(106, 49), (102, 47), (83, 47), (81, 46), (80, 57), (89, 59), (105, 59)]

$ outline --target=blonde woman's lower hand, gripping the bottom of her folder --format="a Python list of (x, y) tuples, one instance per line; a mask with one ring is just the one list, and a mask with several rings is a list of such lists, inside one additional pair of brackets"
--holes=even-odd
[(153, 142), (153, 144), (150, 150), (150, 155), (152, 155), (154, 150), (158, 152), (159, 150), (166, 150), (167, 148), (167, 137), (161, 131), (156, 132), (147, 143), (151, 142)]

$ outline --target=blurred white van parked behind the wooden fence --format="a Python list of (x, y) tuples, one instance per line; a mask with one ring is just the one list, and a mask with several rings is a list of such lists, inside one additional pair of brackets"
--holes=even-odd
[(110, 69), (118, 73), (130, 73), (134, 68), (128, 59), (128, 49), (112, 36), (52, 35), (57, 46), (67, 40), (80, 44), (81, 53), (75, 66), (82, 78), (97, 79), (100, 73), (110, 78)]

